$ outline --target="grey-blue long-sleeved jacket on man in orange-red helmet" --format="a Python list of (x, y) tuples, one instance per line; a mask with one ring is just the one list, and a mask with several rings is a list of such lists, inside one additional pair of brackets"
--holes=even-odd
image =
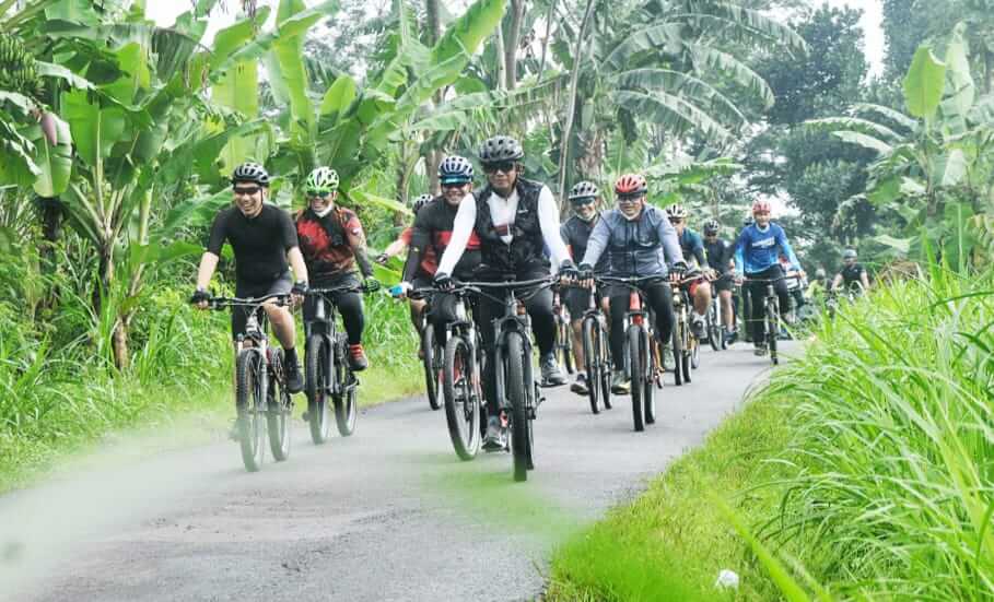
[(663, 210), (646, 204), (638, 220), (628, 221), (612, 209), (600, 214), (583, 263), (595, 265), (608, 253), (608, 274), (617, 278), (665, 276), (683, 260), (677, 231)]

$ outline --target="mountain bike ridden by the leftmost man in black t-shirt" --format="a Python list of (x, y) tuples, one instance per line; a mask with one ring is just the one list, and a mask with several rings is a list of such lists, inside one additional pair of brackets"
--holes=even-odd
[[(245, 333), (235, 338), (235, 432), (245, 470), (262, 467), (266, 435), (272, 458), (282, 462), (290, 457), (293, 399), (286, 387), (283, 350), (273, 350), (267, 334), (268, 320), (262, 305), (272, 302), (289, 306), (290, 295), (256, 298), (212, 297), (211, 309), (248, 309)], [(265, 426), (264, 426), (265, 422)]]

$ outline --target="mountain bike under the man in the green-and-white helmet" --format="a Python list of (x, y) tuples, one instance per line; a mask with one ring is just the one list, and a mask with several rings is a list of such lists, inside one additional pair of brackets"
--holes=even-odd
[(349, 341), (338, 330), (337, 308), (331, 302), (336, 294), (365, 292), (360, 285), (348, 284), (326, 288), (311, 288), (307, 302), (314, 304), (314, 318), (304, 322), (304, 366), (307, 394), (307, 413), (311, 440), (321, 445), (331, 437), (331, 411), (341, 436), (355, 432), (359, 417), (356, 388), (359, 379), (349, 367)]

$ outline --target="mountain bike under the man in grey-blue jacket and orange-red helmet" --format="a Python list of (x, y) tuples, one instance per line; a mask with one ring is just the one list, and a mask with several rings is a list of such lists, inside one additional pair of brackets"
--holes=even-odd
[(628, 311), (624, 314), (624, 369), (631, 379), (632, 422), (636, 432), (656, 422), (656, 399), (653, 387), (663, 387), (663, 349), (655, 332), (655, 315), (645, 302), (642, 286), (664, 282), (663, 276), (596, 278), (596, 282), (629, 288)]

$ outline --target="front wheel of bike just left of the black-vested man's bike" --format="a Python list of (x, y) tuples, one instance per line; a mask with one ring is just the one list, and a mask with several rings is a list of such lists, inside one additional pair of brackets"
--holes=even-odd
[(445, 343), (442, 392), (445, 398), (445, 420), (448, 436), (463, 460), (472, 460), (480, 449), (479, 375), (472, 351), (463, 337), (453, 337)]

